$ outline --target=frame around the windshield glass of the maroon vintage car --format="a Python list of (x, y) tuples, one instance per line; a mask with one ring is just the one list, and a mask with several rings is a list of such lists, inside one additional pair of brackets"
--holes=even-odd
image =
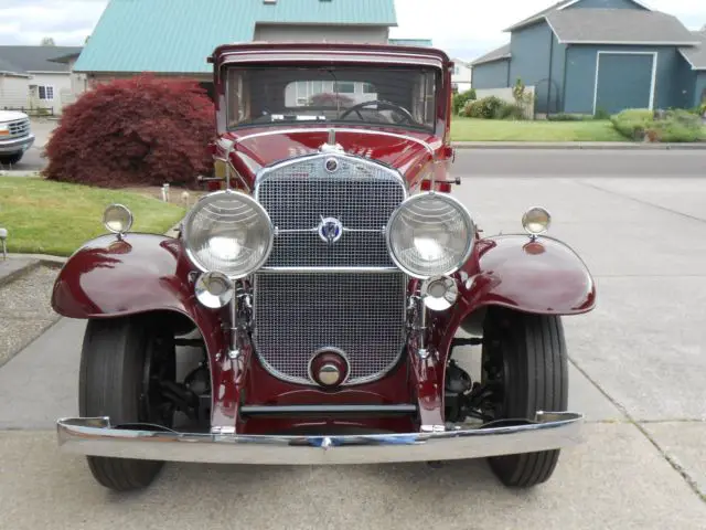
[[(338, 59), (338, 57), (336, 57)], [(426, 61), (346, 61), (346, 57), (341, 57), (341, 60), (334, 60), (333, 57), (329, 57), (327, 62), (320, 61), (311, 61), (309, 57), (299, 57), (298, 60), (287, 60), (287, 61), (268, 61), (267, 63), (263, 63), (259, 61), (235, 61), (227, 62), (222, 64), (220, 68), (220, 77), (222, 85), (222, 97), (223, 97), (223, 110), (224, 110), (224, 126), (226, 131), (238, 131), (243, 129), (253, 129), (253, 128), (270, 128), (270, 127), (298, 127), (298, 126), (335, 126), (335, 127), (365, 127), (365, 128), (394, 128), (400, 129), (406, 132), (427, 132), (427, 134), (437, 134), (440, 121), (445, 120), (445, 117), (440, 114), (442, 113), (442, 99), (445, 94), (445, 76), (443, 68), (438, 67), (435, 64), (430, 64)], [(302, 70), (321, 70), (321, 68), (332, 68), (334, 71), (345, 71), (346, 68), (357, 68), (360, 72), (363, 68), (385, 68), (389, 70), (391, 67), (396, 67), (406, 71), (418, 70), (420, 74), (426, 72), (432, 76), (434, 84), (434, 95), (432, 100), (429, 102), (430, 105), (430, 115), (427, 117), (427, 124), (415, 125), (409, 123), (373, 123), (373, 121), (361, 121), (361, 120), (319, 120), (319, 119), (278, 119), (271, 121), (263, 121), (263, 123), (244, 123), (238, 125), (231, 125), (229, 116), (231, 116), (231, 105), (233, 104), (232, 92), (231, 92), (231, 83), (232, 83), (232, 72), (233, 71), (244, 71), (250, 68), (258, 70), (267, 70), (267, 68), (302, 68)], [(297, 80), (292, 80), (292, 83), (297, 82)], [(340, 93), (345, 95), (344, 93)], [(306, 107), (302, 107), (306, 108)], [(280, 113), (274, 114), (274, 116), (279, 115)], [(292, 113), (293, 114), (293, 113)]]

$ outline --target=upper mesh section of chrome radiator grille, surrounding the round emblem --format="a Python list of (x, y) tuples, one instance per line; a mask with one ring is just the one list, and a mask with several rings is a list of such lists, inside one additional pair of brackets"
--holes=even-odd
[[(340, 159), (329, 174), (325, 159), (304, 160), (268, 174), (258, 200), (278, 229), (268, 267), (392, 267), (383, 227), (405, 198), (404, 184), (371, 162)], [(345, 232), (335, 244), (321, 240), (322, 218)]]

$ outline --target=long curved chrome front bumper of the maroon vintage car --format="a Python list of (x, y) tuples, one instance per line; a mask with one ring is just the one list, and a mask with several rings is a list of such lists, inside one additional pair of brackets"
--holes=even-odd
[(536, 423), (363, 436), (188, 434), (116, 428), (107, 417), (63, 418), (67, 453), (212, 464), (321, 465), (452, 460), (559, 449), (581, 442), (584, 415), (538, 412)]

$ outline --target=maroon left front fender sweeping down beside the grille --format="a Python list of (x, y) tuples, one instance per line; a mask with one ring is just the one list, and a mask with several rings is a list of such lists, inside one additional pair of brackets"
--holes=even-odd
[(100, 236), (74, 253), (58, 273), (52, 307), (84, 319), (160, 310), (184, 315), (201, 331), (208, 352), (212, 425), (233, 426), (246, 365), (243, 359), (232, 363), (227, 356), (218, 358), (226, 348), (223, 320), (196, 301), (189, 279), (192, 268), (179, 240), (139, 233), (128, 233), (122, 241)]

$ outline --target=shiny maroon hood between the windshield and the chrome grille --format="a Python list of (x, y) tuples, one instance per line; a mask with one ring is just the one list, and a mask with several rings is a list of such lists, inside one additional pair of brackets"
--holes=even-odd
[(235, 140), (232, 161), (252, 183), (265, 166), (319, 152), (331, 129), (335, 130), (335, 142), (344, 152), (391, 166), (410, 183), (431, 159), (429, 148), (436, 151), (442, 146), (438, 137), (429, 134), (352, 127), (248, 129), (231, 132), (225, 138)]

